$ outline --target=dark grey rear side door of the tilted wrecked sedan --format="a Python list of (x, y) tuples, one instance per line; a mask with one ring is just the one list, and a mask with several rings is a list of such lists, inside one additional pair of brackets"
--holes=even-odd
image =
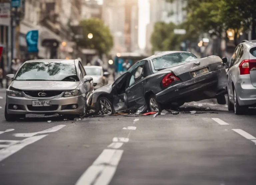
[(146, 61), (140, 61), (137, 65), (131, 72), (128, 88), (125, 91), (128, 98), (128, 108), (131, 110), (137, 110), (146, 103), (144, 99)]

